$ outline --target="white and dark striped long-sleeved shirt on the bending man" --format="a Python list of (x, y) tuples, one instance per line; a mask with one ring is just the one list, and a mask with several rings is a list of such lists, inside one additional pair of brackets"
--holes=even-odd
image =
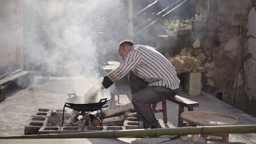
[(175, 68), (161, 53), (150, 47), (134, 45), (125, 60), (107, 74), (112, 82), (124, 77), (129, 71), (148, 82), (148, 86), (164, 86), (178, 89), (179, 78)]

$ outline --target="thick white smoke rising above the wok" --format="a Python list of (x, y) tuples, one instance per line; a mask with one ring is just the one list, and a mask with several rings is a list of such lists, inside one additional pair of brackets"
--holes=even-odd
[(24, 0), (24, 69), (83, 77), (73, 90), (85, 93), (104, 76), (99, 66), (106, 55), (116, 51), (117, 45), (111, 47), (109, 41), (117, 38), (106, 36), (125, 18), (124, 8), (123, 1), (113, 0)]

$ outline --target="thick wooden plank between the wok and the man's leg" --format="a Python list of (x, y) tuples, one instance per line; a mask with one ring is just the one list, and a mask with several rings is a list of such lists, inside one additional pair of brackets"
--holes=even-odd
[(133, 109), (133, 108), (134, 108), (133, 103), (127, 103), (126, 105), (123, 105), (123, 106), (116, 106), (116, 107), (113, 107), (112, 109), (105, 110), (103, 114), (105, 115), (105, 118), (107, 118), (125, 111), (129, 111), (130, 109)]

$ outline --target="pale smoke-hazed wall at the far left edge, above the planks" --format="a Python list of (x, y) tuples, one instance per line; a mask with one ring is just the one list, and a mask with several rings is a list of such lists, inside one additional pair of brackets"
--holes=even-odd
[(20, 0), (0, 1), (0, 75), (23, 68), (21, 15)]

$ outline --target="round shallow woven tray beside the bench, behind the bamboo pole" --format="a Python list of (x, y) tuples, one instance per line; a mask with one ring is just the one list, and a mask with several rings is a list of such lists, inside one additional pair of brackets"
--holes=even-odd
[(186, 111), (181, 114), (181, 118), (199, 126), (236, 125), (239, 122), (230, 115), (209, 111)]

